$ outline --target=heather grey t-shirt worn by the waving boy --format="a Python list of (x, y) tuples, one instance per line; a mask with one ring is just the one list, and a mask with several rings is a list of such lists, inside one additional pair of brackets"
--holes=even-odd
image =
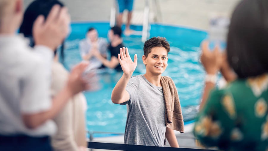
[(138, 75), (130, 78), (126, 90), (130, 99), (121, 104), (128, 105), (124, 143), (164, 146), (166, 126), (162, 87)]

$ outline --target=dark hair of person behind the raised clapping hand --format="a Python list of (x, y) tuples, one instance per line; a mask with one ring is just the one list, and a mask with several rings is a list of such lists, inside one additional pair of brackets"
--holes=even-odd
[[(25, 37), (30, 39), (30, 46), (33, 47), (35, 45), (33, 35), (32, 35), (32, 27), (34, 21), (37, 19), (39, 15), (43, 15), (45, 19), (47, 18), (52, 7), (58, 4), (63, 7), (63, 3), (58, 0), (35, 0), (33, 1), (26, 9), (24, 13), (24, 19), (19, 29), (20, 33), (23, 33)], [(64, 54), (64, 42), (61, 47), (60, 57), (63, 59)], [(57, 52), (55, 51), (55, 54)]]

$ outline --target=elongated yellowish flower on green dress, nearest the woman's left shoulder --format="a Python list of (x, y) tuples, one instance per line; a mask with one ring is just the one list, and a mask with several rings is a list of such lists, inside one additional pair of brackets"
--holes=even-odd
[(225, 108), (225, 111), (230, 116), (230, 118), (236, 117), (236, 108), (235, 108), (233, 97), (231, 94), (225, 95), (222, 98), (222, 105)]

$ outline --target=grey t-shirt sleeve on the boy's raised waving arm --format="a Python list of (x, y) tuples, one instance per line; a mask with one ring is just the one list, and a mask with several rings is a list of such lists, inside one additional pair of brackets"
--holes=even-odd
[(127, 83), (127, 87), (125, 89), (129, 94), (129, 100), (124, 102), (124, 103), (121, 103), (120, 105), (125, 105), (127, 103), (132, 102), (135, 99), (137, 90), (139, 88), (139, 83), (140, 83), (140, 81), (139, 81), (138, 77), (136, 77), (136, 76), (133, 76), (129, 79), (129, 81)]

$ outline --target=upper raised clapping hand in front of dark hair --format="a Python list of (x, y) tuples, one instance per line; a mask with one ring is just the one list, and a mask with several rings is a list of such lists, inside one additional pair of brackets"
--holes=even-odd
[(60, 5), (52, 7), (46, 21), (39, 15), (33, 24), (35, 44), (56, 50), (68, 34), (70, 20), (67, 8)]

